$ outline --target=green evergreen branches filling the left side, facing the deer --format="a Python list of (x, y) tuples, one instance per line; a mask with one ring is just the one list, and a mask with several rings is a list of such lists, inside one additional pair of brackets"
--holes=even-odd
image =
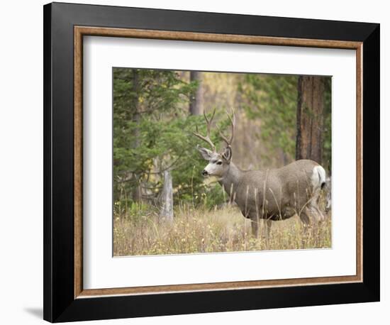
[[(203, 116), (189, 116), (189, 98), (197, 82), (185, 82), (178, 72), (113, 69), (114, 202), (131, 206), (135, 188), (154, 202), (162, 189), (162, 173), (172, 172), (174, 202), (199, 204), (210, 190), (201, 170), (205, 161), (196, 150), (206, 133)], [(222, 126), (225, 126), (223, 123)], [(216, 131), (212, 134), (217, 143)], [(220, 196), (221, 197), (221, 196)], [(212, 199), (208, 204), (218, 204)]]

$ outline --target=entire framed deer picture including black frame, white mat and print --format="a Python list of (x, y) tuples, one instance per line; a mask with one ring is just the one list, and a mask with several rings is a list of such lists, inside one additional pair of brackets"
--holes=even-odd
[(379, 301), (379, 24), (44, 6), (44, 319)]

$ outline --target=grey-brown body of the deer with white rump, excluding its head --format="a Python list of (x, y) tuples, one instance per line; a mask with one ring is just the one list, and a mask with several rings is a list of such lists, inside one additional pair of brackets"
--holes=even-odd
[[(219, 181), (239, 207), (245, 218), (252, 221), (257, 234), (260, 219), (280, 221), (297, 214), (303, 223), (310, 217), (323, 219), (318, 209), (318, 196), (325, 184), (325, 170), (313, 160), (297, 160), (282, 168), (269, 170), (239, 170), (230, 163), (228, 172)], [(267, 228), (269, 231), (269, 228)]]

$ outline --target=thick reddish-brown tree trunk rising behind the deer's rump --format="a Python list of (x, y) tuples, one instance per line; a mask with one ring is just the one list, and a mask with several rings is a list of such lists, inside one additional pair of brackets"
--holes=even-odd
[(319, 164), (322, 163), (323, 107), (323, 77), (299, 77), (296, 111), (296, 160), (311, 159)]

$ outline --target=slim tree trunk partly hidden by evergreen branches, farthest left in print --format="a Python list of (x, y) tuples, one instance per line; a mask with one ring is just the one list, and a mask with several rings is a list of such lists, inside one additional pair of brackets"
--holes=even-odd
[[(140, 145), (140, 140), (139, 140), (140, 130), (138, 128), (138, 124), (140, 123), (140, 117), (141, 117), (140, 116), (140, 109), (138, 107), (139, 106), (138, 105), (139, 86), (140, 86), (140, 82), (139, 82), (138, 70), (134, 69), (133, 70), (133, 89), (132, 89), (134, 94), (135, 94), (134, 101), (133, 101), (133, 110), (134, 110), (133, 121), (136, 123), (137, 126), (135, 127), (135, 132), (134, 132), (135, 141), (133, 143), (133, 148), (138, 148), (138, 146)], [(133, 201), (134, 202), (141, 202), (143, 196), (142, 196), (142, 187), (140, 184), (140, 175), (136, 175), (134, 173), (133, 177), (135, 180), (135, 184), (134, 184), (134, 188), (133, 188), (133, 192), (132, 192)]]

